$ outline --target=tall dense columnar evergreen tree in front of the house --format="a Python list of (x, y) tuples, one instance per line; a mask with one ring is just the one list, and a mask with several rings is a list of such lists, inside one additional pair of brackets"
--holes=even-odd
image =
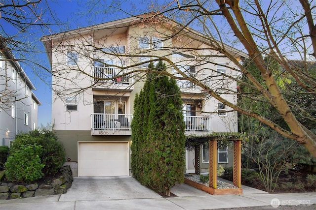
[[(162, 61), (155, 68), (166, 71)], [(149, 73), (134, 104), (132, 172), (142, 184), (169, 196), (171, 187), (184, 179), (185, 124), (180, 90), (174, 79)]]

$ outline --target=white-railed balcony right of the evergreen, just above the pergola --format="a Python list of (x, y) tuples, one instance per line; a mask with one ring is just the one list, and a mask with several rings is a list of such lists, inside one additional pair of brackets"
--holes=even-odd
[(186, 135), (203, 135), (212, 133), (212, 117), (185, 116)]

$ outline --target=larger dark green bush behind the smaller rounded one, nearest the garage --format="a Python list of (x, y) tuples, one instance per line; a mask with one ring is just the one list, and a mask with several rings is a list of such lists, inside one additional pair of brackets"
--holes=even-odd
[(20, 150), (24, 145), (40, 145), (40, 161), (45, 165), (44, 175), (54, 175), (65, 162), (65, 149), (57, 136), (48, 129), (33, 130), (15, 137), (11, 152)]

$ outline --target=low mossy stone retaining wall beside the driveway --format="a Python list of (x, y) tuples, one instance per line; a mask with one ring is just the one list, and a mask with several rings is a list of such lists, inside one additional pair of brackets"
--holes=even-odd
[(61, 176), (52, 180), (50, 184), (15, 185), (0, 182), (0, 199), (29, 198), (34, 196), (63, 194), (71, 187), (74, 180), (73, 172), (69, 165), (60, 169)]

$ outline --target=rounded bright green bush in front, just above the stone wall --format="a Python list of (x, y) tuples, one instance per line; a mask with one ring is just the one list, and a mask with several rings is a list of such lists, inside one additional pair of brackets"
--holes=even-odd
[(30, 182), (42, 178), (44, 174), (41, 170), (45, 165), (40, 163), (40, 153), (42, 147), (37, 144), (21, 146), (12, 152), (4, 164), (6, 179)]

